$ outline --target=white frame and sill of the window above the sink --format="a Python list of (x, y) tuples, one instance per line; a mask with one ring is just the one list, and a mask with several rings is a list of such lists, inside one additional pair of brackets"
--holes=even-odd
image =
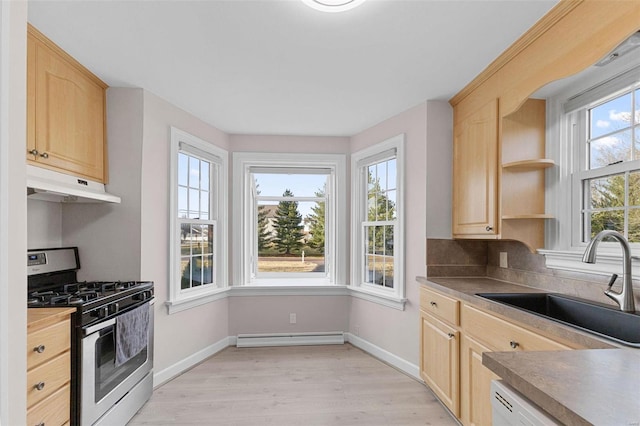
[[(622, 272), (622, 251), (615, 242), (600, 243), (598, 261), (595, 264), (582, 262), (582, 255), (587, 242), (582, 241), (583, 207), (582, 179), (600, 172), (586, 170), (587, 137), (585, 120), (578, 120), (576, 111), (588, 109), (604, 99), (610, 99), (625, 89), (639, 83), (640, 52), (628, 55), (612, 62), (606, 68), (592, 69), (577, 83), (565, 88), (547, 99), (546, 131), (548, 141), (547, 157), (556, 162), (556, 167), (546, 171), (547, 191), (545, 202), (547, 210), (554, 220), (545, 226), (545, 248), (538, 253), (545, 256), (546, 266), (573, 272), (597, 275), (620, 274)], [(618, 62), (616, 64), (616, 62)], [(638, 86), (636, 86), (636, 89)], [(586, 114), (586, 113), (585, 113)], [(629, 161), (635, 163), (637, 160)], [(605, 175), (619, 173), (630, 164), (613, 164), (600, 169), (607, 169)], [(598, 170), (598, 169), (595, 169)], [(567, 194), (570, 194), (567, 197)], [(640, 243), (631, 243), (633, 256), (640, 256)], [(639, 262), (632, 262), (633, 274), (640, 274)]]

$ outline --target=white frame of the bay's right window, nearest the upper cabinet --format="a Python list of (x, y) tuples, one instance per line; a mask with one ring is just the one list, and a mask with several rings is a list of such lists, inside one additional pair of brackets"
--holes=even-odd
[[(371, 300), (403, 310), (406, 298), (404, 264), (404, 159), (405, 135), (400, 134), (351, 155), (351, 284), (355, 297)], [(393, 288), (365, 282), (365, 235), (364, 226), (370, 223), (367, 217), (367, 186), (369, 165), (390, 159), (395, 151), (396, 159), (396, 224), (394, 225), (394, 277)]]

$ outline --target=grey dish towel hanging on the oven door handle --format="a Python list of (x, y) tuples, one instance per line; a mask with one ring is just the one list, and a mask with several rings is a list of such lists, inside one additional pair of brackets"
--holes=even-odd
[(129, 361), (149, 342), (149, 304), (116, 318), (116, 367)]

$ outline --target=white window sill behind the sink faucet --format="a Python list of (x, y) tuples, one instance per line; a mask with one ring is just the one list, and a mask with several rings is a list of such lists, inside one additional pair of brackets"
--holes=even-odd
[[(580, 272), (595, 275), (618, 274), (622, 276), (622, 254), (620, 250), (603, 249), (598, 251), (596, 263), (582, 262), (584, 250), (538, 250), (544, 255), (545, 263), (549, 269)], [(638, 260), (638, 253), (632, 251), (632, 260)], [(640, 262), (631, 262), (632, 276), (640, 277)]]

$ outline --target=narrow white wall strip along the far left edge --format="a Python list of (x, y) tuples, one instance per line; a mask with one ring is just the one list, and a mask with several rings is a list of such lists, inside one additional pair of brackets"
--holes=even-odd
[(0, 2), (0, 423), (26, 423), (27, 3)]

